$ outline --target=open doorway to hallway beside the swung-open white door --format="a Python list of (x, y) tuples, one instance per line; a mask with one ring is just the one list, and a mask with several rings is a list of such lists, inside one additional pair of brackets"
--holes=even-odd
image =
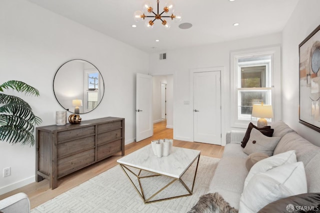
[(153, 80), (152, 121), (173, 128), (173, 75), (155, 75)]

